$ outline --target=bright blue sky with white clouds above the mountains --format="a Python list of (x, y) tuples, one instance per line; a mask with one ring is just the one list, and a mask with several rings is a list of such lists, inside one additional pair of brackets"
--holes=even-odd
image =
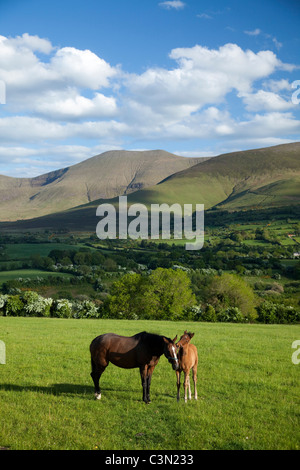
[(299, 26), (296, 0), (0, 0), (0, 174), (298, 141)]

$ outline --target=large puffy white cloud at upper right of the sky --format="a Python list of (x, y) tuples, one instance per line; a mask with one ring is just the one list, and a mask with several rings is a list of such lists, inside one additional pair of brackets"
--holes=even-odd
[(224, 102), (232, 90), (250, 93), (253, 83), (278, 69), (288, 67), (271, 51), (243, 51), (236, 44), (219, 49), (202, 46), (177, 48), (170, 53), (177, 67), (151, 68), (130, 75), (127, 87), (131, 103), (148, 107), (154, 115), (169, 120), (183, 119), (206, 105)]

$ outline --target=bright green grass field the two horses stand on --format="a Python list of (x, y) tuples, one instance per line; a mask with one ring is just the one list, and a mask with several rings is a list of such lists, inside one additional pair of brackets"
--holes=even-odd
[[(102, 399), (89, 376), (91, 340), (144, 329), (195, 332), (198, 401), (176, 401), (162, 357), (145, 405), (138, 369), (109, 365)], [(0, 317), (0, 447), (9, 449), (297, 449), (298, 326)], [(192, 387), (193, 390), (193, 387)]]

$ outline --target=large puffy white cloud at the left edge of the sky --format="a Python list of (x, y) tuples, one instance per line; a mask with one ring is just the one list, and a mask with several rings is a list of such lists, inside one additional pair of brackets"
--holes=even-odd
[[(48, 57), (42, 60), (34, 51)], [(6, 109), (13, 113), (62, 120), (112, 117), (116, 99), (97, 90), (109, 87), (119, 73), (89, 50), (55, 49), (48, 40), (28, 34), (0, 36), (0, 79), (6, 84)]]

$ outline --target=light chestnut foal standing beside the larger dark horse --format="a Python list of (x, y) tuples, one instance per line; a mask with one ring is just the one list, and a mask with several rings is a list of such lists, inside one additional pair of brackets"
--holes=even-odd
[(177, 401), (180, 398), (180, 374), (184, 372), (184, 401), (187, 402), (187, 387), (189, 388), (189, 399), (191, 400), (191, 384), (190, 384), (190, 370), (193, 370), (193, 380), (194, 380), (194, 389), (195, 389), (195, 400), (197, 400), (197, 365), (198, 365), (198, 352), (194, 344), (191, 344), (190, 341), (194, 333), (188, 333), (185, 330), (184, 334), (181, 336), (176, 347), (178, 348), (178, 361), (179, 368), (176, 371), (177, 375)]

